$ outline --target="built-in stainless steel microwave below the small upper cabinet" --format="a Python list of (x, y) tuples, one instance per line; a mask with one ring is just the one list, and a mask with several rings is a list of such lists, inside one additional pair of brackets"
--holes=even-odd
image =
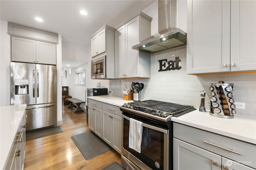
[(106, 78), (106, 55), (91, 61), (91, 78)]

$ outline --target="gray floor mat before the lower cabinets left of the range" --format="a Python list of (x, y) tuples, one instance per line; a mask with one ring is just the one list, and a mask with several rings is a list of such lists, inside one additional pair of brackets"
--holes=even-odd
[(71, 139), (76, 144), (86, 160), (94, 158), (112, 149), (107, 143), (95, 135), (92, 131), (74, 135)]

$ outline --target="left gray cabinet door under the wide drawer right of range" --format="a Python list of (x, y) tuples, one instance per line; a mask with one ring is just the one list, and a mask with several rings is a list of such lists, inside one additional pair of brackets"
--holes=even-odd
[(174, 170), (221, 170), (221, 156), (173, 138)]

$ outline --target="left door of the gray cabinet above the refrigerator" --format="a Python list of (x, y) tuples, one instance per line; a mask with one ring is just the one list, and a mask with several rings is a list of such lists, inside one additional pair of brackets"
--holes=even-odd
[(12, 61), (36, 63), (36, 41), (12, 37)]

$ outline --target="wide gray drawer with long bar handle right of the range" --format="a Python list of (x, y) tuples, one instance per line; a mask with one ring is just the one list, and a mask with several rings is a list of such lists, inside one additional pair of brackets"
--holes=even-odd
[(179, 123), (174, 123), (173, 129), (173, 137), (177, 139), (256, 168), (256, 145)]

